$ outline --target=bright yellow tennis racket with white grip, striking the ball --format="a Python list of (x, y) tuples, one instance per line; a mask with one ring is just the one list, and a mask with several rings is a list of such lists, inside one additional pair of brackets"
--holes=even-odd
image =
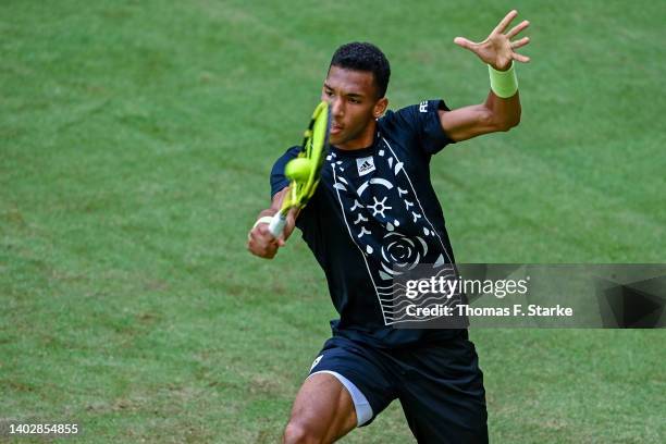
[(284, 174), (292, 182), (282, 202), (282, 208), (269, 224), (269, 232), (273, 237), (280, 237), (284, 231), (289, 210), (292, 208), (304, 208), (314, 194), (329, 145), (330, 128), (329, 103), (322, 101), (312, 113), (298, 157), (292, 159), (284, 168)]

